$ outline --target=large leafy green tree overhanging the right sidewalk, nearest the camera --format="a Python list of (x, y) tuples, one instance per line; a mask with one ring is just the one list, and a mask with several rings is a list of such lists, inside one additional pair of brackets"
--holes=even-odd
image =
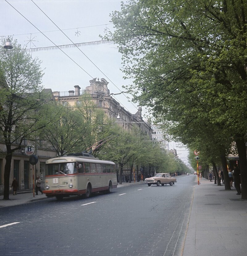
[(128, 89), (136, 101), (167, 126), (180, 117), (190, 123), (195, 114), (198, 124), (206, 117), (234, 138), (242, 199), (247, 199), (246, 11), (241, 0), (131, 0), (112, 14), (115, 32), (109, 35), (119, 44), (126, 77), (133, 78)]

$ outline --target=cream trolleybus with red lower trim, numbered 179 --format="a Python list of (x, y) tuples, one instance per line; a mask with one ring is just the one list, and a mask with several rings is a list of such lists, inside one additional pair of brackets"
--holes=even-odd
[(92, 192), (110, 193), (117, 187), (115, 163), (99, 160), (88, 153), (75, 153), (51, 158), (46, 161), (46, 196), (58, 200), (70, 195), (85, 195)]

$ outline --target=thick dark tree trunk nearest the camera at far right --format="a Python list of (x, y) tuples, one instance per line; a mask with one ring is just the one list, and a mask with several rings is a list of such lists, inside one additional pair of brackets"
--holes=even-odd
[(247, 157), (246, 147), (243, 137), (235, 139), (239, 157), (239, 167), (241, 174), (241, 199), (247, 200)]

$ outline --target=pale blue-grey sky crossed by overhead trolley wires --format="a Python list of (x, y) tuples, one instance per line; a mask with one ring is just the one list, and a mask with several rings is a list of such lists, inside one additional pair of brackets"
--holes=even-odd
[[(79, 85), (85, 89), (91, 79), (105, 78), (110, 92), (119, 93), (124, 91), (123, 85), (132, 81), (123, 78), (121, 54), (113, 43), (84, 45), (79, 47), (81, 51), (76, 47), (63, 48), (69, 57), (58, 49), (47, 47), (101, 41), (99, 35), (114, 29), (110, 13), (120, 10), (120, 0), (2, 0), (0, 36), (13, 36), (27, 48), (41, 48), (31, 54), (42, 61), (44, 88), (69, 91)], [(114, 96), (126, 110), (136, 113), (138, 105), (129, 102), (127, 97), (131, 99), (127, 94)], [(143, 116), (148, 115), (143, 107)], [(170, 143), (170, 148), (176, 148), (178, 156), (187, 162), (184, 147)]]

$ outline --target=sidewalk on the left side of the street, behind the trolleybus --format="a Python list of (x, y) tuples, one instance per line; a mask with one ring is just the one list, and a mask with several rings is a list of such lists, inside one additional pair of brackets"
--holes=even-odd
[[(121, 185), (118, 184), (118, 188), (120, 187), (124, 187), (124, 186), (128, 186), (128, 185), (134, 185), (134, 184), (141, 184), (144, 183), (143, 181), (140, 182), (136, 182), (134, 183), (134, 181), (132, 181), (131, 183), (126, 183), (123, 182)], [(10, 192), (9, 195), (9, 199), (10, 200), (2, 200), (3, 195), (0, 196), (0, 209), (2, 207), (7, 207), (7, 206), (14, 206), (14, 205), (22, 205), (22, 204), (26, 204), (26, 203), (30, 203), (30, 202), (34, 202), (34, 201), (38, 201), (38, 200), (45, 200), (48, 199), (48, 197), (46, 197), (45, 194), (41, 195), (40, 192), (38, 192), (38, 196), (36, 196), (36, 192), (34, 192), (35, 197), (33, 197), (33, 191), (17, 191), (17, 195), (14, 196), (12, 191)]]

